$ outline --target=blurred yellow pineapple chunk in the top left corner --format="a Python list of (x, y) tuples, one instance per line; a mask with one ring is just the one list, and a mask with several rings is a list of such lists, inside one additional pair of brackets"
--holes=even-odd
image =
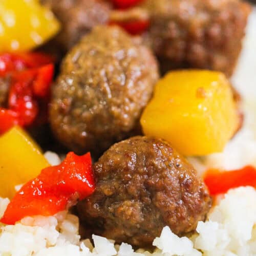
[(0, 52), (32, 50), (59, 29), (53, 13), (38, 0), (0, 1)]

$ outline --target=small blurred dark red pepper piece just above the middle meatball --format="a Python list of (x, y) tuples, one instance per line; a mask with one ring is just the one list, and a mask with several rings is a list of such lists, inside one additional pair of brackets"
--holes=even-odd
[(149, 20), (134, 20), (131, 22), (110, 22), (110, 25), (118, 25), (131, 35), (140, 35), (150, 26)]

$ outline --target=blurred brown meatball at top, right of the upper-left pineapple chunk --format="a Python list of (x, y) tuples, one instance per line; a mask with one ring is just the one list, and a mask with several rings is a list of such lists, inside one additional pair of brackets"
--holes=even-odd
[(61, 22), (61, 32), (54, 42), (63, 51), (69, 50), (93, 27), (105, 24), (109, 19), (110, 5), (106, 1), (41, 0), (41, 2), (48, 5)]

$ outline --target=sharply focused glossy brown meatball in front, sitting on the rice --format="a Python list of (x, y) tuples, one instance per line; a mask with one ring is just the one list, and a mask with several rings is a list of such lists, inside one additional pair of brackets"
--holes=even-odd
[(164, 226), (183, 236), (211, 206), (196, 170), (166, 141), (133, 137), (114, 144), (94, 166), (95, 193), (78, 204), (93, 232), (149, 246)]

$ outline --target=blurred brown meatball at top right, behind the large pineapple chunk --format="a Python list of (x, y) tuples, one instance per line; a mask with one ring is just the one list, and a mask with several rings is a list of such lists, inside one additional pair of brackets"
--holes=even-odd
[(142, 7), (151, 13), (145, 42), (158, 56), (163, 72), (203, 68), (232, 74), (249, 4), (240, 0), (146, 0)]

